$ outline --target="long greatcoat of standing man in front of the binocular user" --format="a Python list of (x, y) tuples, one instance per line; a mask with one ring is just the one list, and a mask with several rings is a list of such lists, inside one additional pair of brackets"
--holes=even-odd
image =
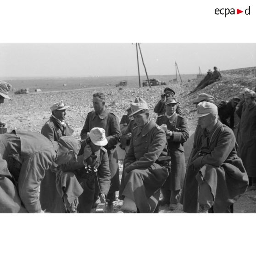
[(177, 204), (177, 195), (183, 187), (186, 172), (183, 144), (189, 138), (187, 120), (175, 112), (170, 119), (166, 115), (158, 117), (156, 123), (160, 126), (166, 124), (167, 130), (173, 131), (173, 135), (167, 139), (172, 169), (163, 186), (162, 194), (165, 201)]

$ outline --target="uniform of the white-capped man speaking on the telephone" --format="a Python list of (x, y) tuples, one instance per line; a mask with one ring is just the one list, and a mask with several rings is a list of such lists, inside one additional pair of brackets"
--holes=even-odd
[[(57, 174), (58, 191), (62, 198), (67, 199), (67, 204), (76, 202), (79, 213), (89, 213), (92, 209), (95, 194), (108, 194), (110, 188), (110, 169), (107, 150), (100, 147), (95, 152), (96, 159), (89, 157), (86, 165), (83, 163), (83, 150), (86, 142), (82, 142), (78, 153), (78, 162), (68, 162), (61, 165), (61, 172)], [(98, 171), (93, 175), (85, 174), (85, 166), (95, 167)], [(78, 203), (79, 202), (79, 203)], [(68, 208), (68, 206), (67, 206)]]

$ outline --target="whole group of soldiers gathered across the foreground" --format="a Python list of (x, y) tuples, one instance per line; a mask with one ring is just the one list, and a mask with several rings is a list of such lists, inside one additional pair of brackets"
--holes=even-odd
[[(3, 103), (7, 90), (0, 93)], [(234, 98), (220, 106), (213, 96), (198, 95), (187, 165), (188, 123), (173, 89), (164, 89), (154, 109), (156, 122), (140, 97), (119, 123), (105, 95), (93, 94), (94, 111), (86, 117), (81, 139), (72, 137), (65, 121), (68, 106), (56, 102), (41, 134), (13, 130), (0, 135), (0, 212), (89, 213), (102, 204), (114, 212), (117, 191), (123, 200), (118, 213), (158, 213), (158, 206), (166, 204), (173, 211), (178, 203), (190, 213), (232, 212), (248, 184), (256, 189), (256, 94), (245, 89), (243, 95), (240, 102)], [(234, 114), (234, 102), (239, 102), (237, 139), (227, 114)], [(229, 123), (221, 120), (221, 111)], [(119, 142), (126, 150), (121, 183)]]

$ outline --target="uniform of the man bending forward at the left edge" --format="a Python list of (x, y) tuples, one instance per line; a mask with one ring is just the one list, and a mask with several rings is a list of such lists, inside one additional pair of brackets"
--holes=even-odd
[(37, 133), (0, 135), (0, 212), (39, 213), (39, 185), (54, 163), (58, 143)]

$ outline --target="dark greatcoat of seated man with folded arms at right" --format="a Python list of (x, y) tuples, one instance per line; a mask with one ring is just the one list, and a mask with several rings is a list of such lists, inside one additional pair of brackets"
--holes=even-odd
[[(198, 138), (199, 137), (199, 138)], [(233, 131), (220, 121), (210, 133), (206, 129), (195, 133), (195, 141), (185, 175), (181, 194), (183, 211), (199, 210), (200, 179), (211, 188), (215, 213), (224, 213), (228, 206), (241, 196), (248, 186), (248, 176), (242, 160), (237, 156), (237, 143)], [(205, 152), (205, 153), (202, 153)]]

